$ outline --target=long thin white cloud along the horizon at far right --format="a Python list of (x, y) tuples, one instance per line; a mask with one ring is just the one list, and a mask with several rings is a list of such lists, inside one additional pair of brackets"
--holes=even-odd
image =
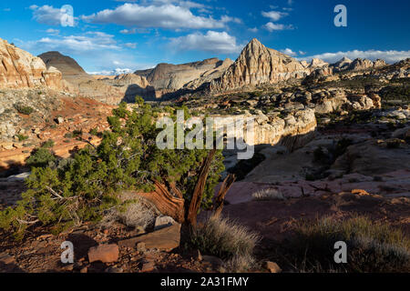
[(367, 50), (367, 51), (360, 51), (360, 50), (352, 50), (347, 52), (337, 52), (337, 53), (324, 53), (320, 55), (312, 55), (303, 57), (302, 60), (311, 60), (313, 58), (320, 58), (323, 61), (328, 63), (335, 63), (343, 58), (343, 56), (347, 56), (350, 59), (355, 58), (368, 58), (371, 60), (375, 60), (377, 58), (384, 59), (387, 63), (395, 63), (405, 58), (410, 57), (410, 50), (409, 51), (380, 51), (380, 50)]

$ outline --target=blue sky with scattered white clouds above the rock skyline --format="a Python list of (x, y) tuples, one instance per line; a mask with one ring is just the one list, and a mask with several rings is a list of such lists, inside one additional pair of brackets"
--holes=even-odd
[[(347, 27), (333, 25), (335, 5)], [(61, 25), (63, 5), (74, 24)], [(0, 37), (34, 55), (57, 50), (111, 74), (209, 57), (236, 59), (251, 38), (299, 59), (410, 57), (408, 0), (32, 0), (0, 3)]]

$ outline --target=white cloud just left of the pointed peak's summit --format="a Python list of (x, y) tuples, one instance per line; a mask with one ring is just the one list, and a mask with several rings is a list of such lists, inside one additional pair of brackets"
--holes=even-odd
[(241, 52), (241, 45), (236, 44), (236, 37), (226, 32), (208, 31), (206, 35), (194, 33), (172, 38), (170, 45), (178, 50), (199, 50), (217, 54)]

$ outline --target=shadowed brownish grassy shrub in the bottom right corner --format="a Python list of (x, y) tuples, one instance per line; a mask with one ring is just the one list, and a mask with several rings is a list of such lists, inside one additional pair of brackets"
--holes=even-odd
[[(334, 243), (347, 244), (347, 264), (335, 264)], [(400, 230), (357, 216), (322, 218), (295, 227), (290, 257), (308, 272), (409, 272), (410, 240)]]

